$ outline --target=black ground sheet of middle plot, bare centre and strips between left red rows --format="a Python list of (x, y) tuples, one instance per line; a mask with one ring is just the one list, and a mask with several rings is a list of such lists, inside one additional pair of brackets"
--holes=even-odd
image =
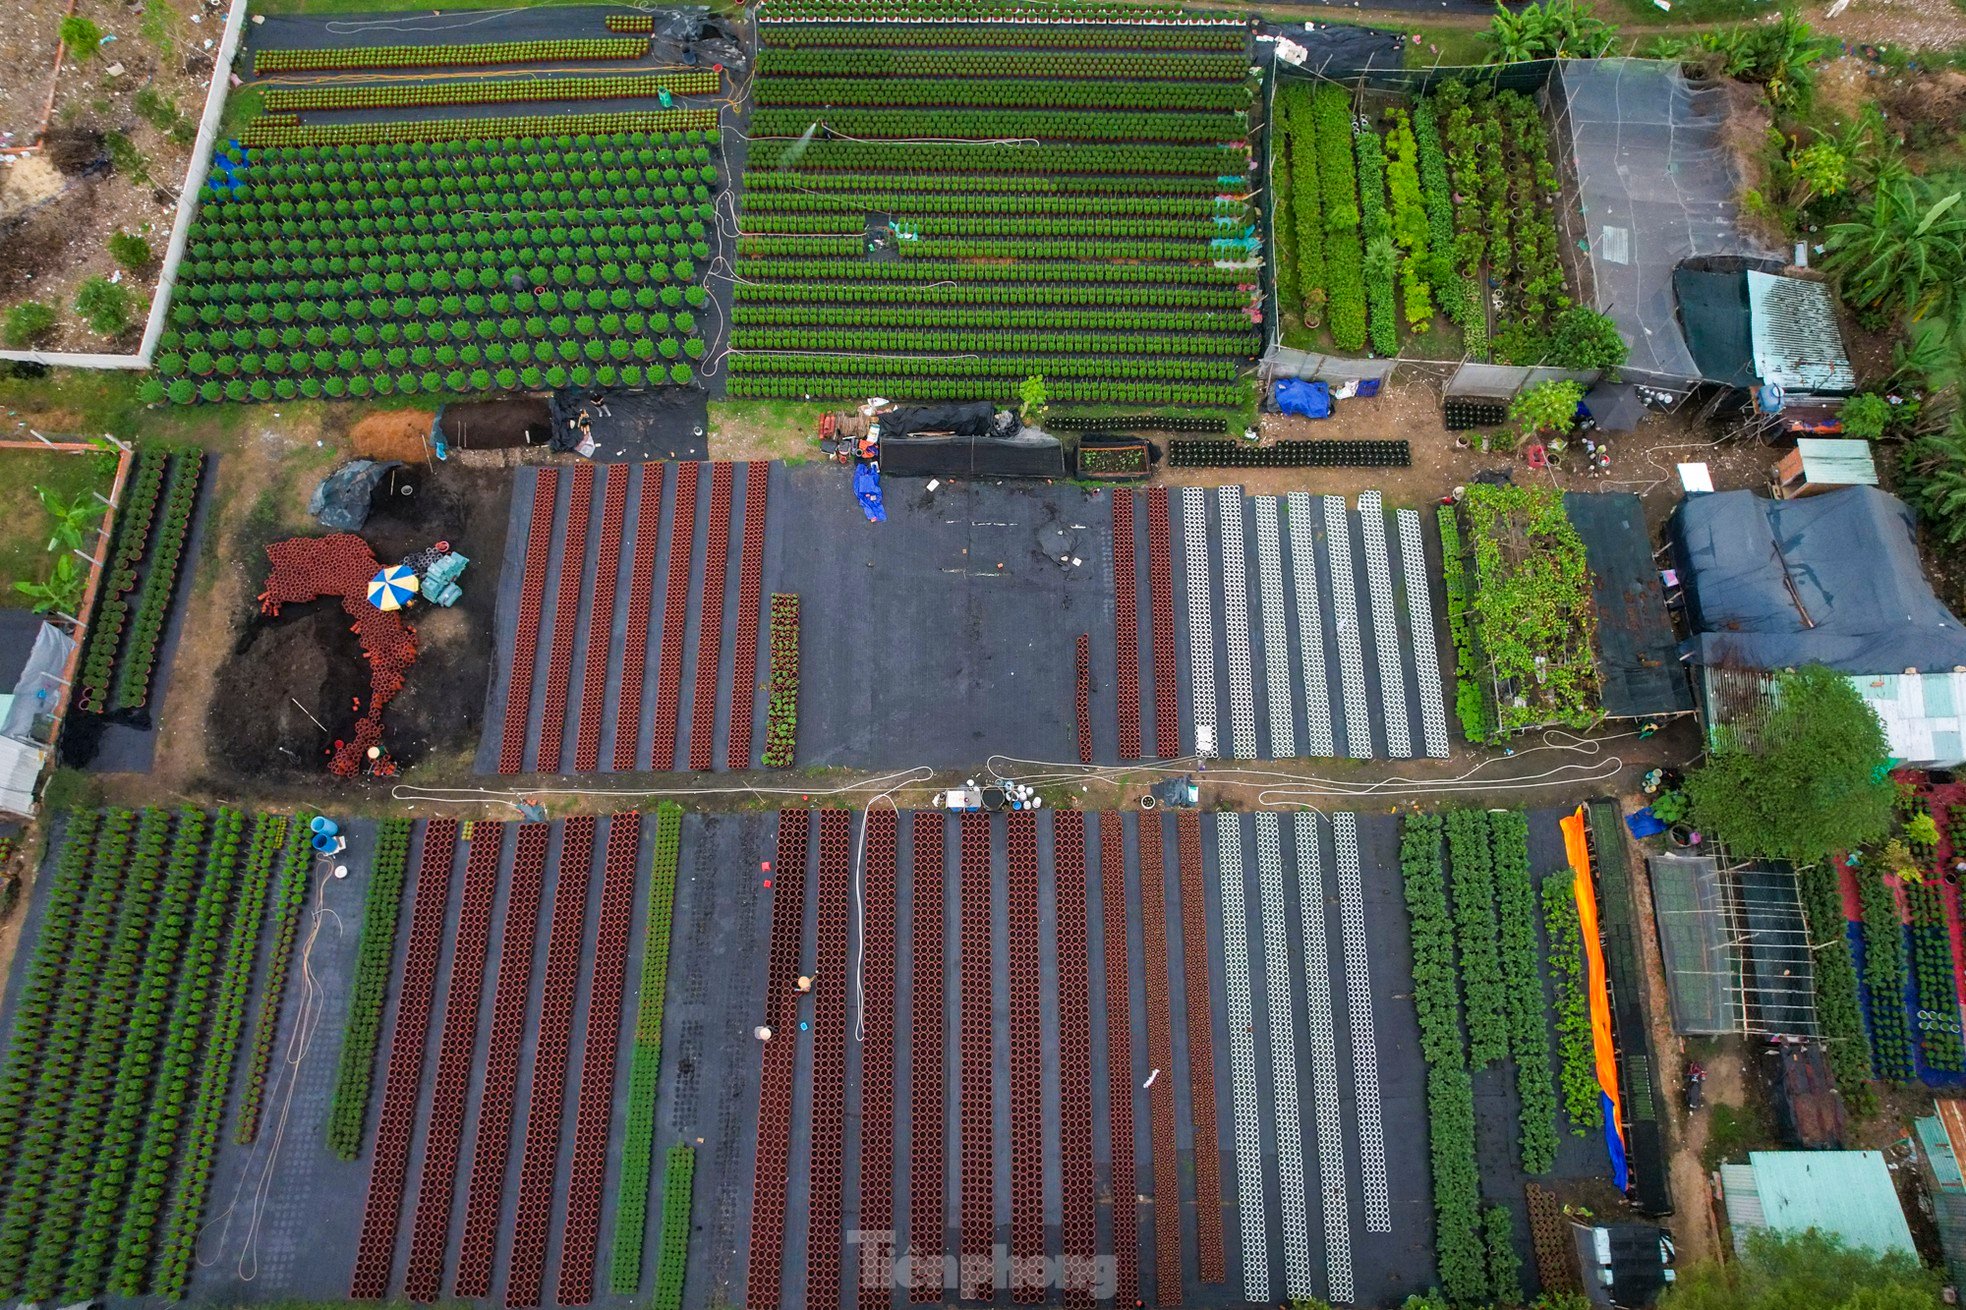
[[(663, 464), (641, 466), (635, 476), (663, 476)], [(476, 769), (497, 767), (497, 744), (505, 714), (525, 712), (505, 704), (511, 681), (511, 645), (517, 627), (517, 596), (523, 549), (533, 506), (535, 470), (519, 470), (513, 519), (499, 574), (495, 622), (497, 667), (492, 677), (484, 736)], [(674, 515), (674, 474), (665, 500), (663, 549), (655, 566), (647, 690), (641, 736), (649, 738), (657, 700), (663, 588), (668, 574), (668, 525)], [(1073, 720), (1073, 651), (1081, 631), (1093, 639), (1093, 669), (1111, 667), (1113, 588), (1111, 588), (1111, 502), (1105, 492), (1054, 486), (950, 484), (930, 490), (926, 482), (889, 482), (887, 523), (869, 523), (853, 500), (845, 472), (838, 464), (771, 464), (771, 519), (765, 537), (763, 590), (796, 592), (800, 604), (800, 700), (798, 767), (981, 767), (1003, 751), (1038, 759), (1077, 759)], [(564, 531), (568, 498), (562, 478), (556, 523)], [(684, 639), (678, 732), (686, 734), (694, 712), (696, 614), (702, 594), (710, 478), (698, 488), (698, 523), (692, 543), (690, 629)], [(623, 539), (635, 535), (639, 482), (629, 492), (629, 521)], [(602, 480), (596, 478), (596, 507), (590, 535), (600, 533)], [(718, 753), (729, 732), (731, 647), (737, 624), (737, 545), (741, 543), (743, 494), (733, 492), (731, 563), (725, 578), (725, 637), (718, 688)], [(574, 561), (568, 565), (568, 561)], [(554, 596), (558, 568), (586, 566), (582, 604), (592, 594), (594, 561), (564, 543), (554, 549), (547, 570), (549, 598)], [(1077, 563), (1073, 563), (1077, 561)], [(606, 690), (600, 759), (613, 759), (613, 706), (619, 698), (619, 649), (627, 608), (629, 549), (623, 547), (621, 584), (615, 594), (617, 620), (607, 639), (609, 686)], [(584, 614), (584, 608), (582, 608)], [(572, 667), (576, 683), (586, 667), (586, 643), (600, 639), (580, 620)], [(550, 624), (541, 624), (541, 647)], [(759, 635), (759, 673), (769, 669), (769, 631)], [(537, 655), (543, 677), (545, 649)], [(529, 740), (537, 738), (541, 700), (539, 679)], [(741, 698), (739, 698), (741, 700)], [(568, 704), (578, 706), (580, 686)], [(763, 744), (765, 698), (751, 698), (753, 742)], [(1113, 759), (1119, 749), (1113, 728), (1111, 686), (1093, 683), (1095, 757)], [(572, 736), (562, 759), (570, 767)], [(529, 769), (535, 761), (529, 755)], [(554, 765), (537, 765), (550, 773)]]

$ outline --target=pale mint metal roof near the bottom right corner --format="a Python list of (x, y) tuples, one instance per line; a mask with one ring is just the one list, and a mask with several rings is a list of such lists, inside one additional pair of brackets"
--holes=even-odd
[[(1815, 1227), (1878, 1255), (1917, 1257), (1891, 1170), (1878, 1151), (1754, 1151), (1748, 1164), (1765, 1227), (1777, 1233)], [(1732, 1194), (1728, 1221), (1752, 1225), (1736, 1220)]]

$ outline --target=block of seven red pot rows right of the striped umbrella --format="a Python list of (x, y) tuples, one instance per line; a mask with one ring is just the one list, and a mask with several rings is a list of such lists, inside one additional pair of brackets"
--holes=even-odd
[[(759, 749), (784, 763), (784, 714), (761, 722), (757, 677), (771, 470), (743, 466), (741, 507), (735, 466), (674, 470), (519, 474), (482, 769), (743, 769)], [(784, 622), (767, 659), (786, 655)]]

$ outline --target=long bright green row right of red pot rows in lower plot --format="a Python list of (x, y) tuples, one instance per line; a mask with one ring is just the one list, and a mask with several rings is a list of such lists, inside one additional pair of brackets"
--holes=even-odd
[(641, 1290), (641, 1245), (649, 1227), (655, 1168), (655, 1092), (663, 1076), (663, 995), (668, 982), (668, 930), (676, 909), (676, 860), (682, 852), (682, 806), (655, 808), (655, 863), (649, 873), (649, 919), (641, 944), (635, 1041), (627, 1066), (627, 1131), (615, 1186), (615, 1229), (607, 1284), (615, 1296)]

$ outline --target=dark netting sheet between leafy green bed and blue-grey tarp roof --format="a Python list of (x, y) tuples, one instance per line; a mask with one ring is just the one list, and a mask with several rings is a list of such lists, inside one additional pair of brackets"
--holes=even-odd
[(1644, 502), (1630, 492), (1565, 492), (1563, 511), (1590, 563), (1604, 712), (1612, 718), (1691, 712), (1693, 686), (1651, 566)]

